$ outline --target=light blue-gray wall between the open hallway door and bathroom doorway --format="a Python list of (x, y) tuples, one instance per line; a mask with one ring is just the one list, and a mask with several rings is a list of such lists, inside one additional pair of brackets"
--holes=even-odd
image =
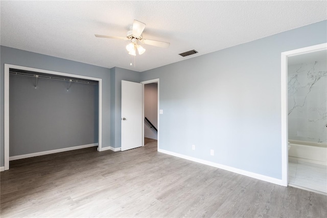
[(281, 52), (326, 42), (326, 26), (142, 72), (141, 81), (160, 79), (160, 148), (282, 179)]

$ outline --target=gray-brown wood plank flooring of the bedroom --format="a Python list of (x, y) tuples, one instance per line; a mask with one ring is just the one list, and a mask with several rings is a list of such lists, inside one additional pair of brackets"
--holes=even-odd
[(1, 217), (327, 217), (327, 196), (156, 151), (96, 147), (10, 162)]

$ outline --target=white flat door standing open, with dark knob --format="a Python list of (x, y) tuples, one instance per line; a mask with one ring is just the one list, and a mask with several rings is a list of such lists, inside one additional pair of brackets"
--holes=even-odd
[(122, 150), (142, 146), (142, 84), (122, 80)]

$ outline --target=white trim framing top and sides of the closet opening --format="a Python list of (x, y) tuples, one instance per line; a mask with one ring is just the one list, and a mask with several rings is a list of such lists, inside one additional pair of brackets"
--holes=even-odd
[(5, 160), (5, 170), (9, 169), (9, 69), (14, 68), (18, 70), (26, 70), (26, 71), (34, 71), (45, 74), (54, 74), (60, 76), (68, 76), (80, 79), (90, 79), (99, 81), (99, 147), (101, 150), (102, 147), (102, 79), (89, 77), (89, 76), (81, 76), (76, 74), (68, 74), (61, 73), (56, 71), (48, 71), (36, 68), (29, 68), (23, 66), (17, 66), (13, 64), (5, 63), (5, 77), (4, 77), (4, 160)]

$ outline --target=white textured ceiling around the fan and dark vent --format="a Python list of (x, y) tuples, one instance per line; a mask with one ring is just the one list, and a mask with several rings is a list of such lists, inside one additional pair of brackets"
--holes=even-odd
[[(3, 46), (112, 68), (145, 71), (327, 19), (327, 1), (1, 1)], [(143, 37), (136, 66), (126, 36), (133, 19)], [(178, 54), (195, 49), (188, 57)], [(134, 62), (134, 59), (132, 60)]]

